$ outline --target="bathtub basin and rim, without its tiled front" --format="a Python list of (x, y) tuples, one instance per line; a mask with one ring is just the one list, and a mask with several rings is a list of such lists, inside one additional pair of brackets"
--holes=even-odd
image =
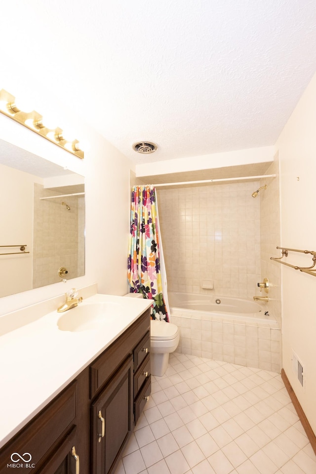
[(249, 298), (168, 292), (170, 314), (278, 327), (265, 302)]

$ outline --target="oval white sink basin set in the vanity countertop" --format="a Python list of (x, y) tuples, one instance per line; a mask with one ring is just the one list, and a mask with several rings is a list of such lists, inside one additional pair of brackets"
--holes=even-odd
[(66, 311), (57, 321), (61, 331), (97, 330), (122, 313), (121, 305), (116, 302), (81, 303)]

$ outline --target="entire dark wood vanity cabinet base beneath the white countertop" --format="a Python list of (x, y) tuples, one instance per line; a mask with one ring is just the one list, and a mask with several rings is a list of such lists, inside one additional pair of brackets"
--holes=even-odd
[(147, 310), (0, 449), (0, 474), (114, 473), (150, 390)]

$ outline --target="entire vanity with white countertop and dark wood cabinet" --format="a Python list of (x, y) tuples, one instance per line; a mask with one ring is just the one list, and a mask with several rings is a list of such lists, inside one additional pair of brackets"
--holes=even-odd
[(114, 473), (151, 392), (150, 301), (95, 294), (0, 342), (0, 474)]

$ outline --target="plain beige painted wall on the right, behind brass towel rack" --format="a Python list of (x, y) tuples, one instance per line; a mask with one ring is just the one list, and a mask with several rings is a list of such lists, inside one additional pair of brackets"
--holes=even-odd
[[(280, 246), (316, 250), (316, 76), (276, 142), (280, 160)], [(278, 254), (280, 255), (280, 253)], [(286, 261), (309, 266), (311, 256)], [(316, 278), (281, 266), (283, 367), (316, 433)], [(292, 371), (292, 349), (305, 366), (305, 392)]]

